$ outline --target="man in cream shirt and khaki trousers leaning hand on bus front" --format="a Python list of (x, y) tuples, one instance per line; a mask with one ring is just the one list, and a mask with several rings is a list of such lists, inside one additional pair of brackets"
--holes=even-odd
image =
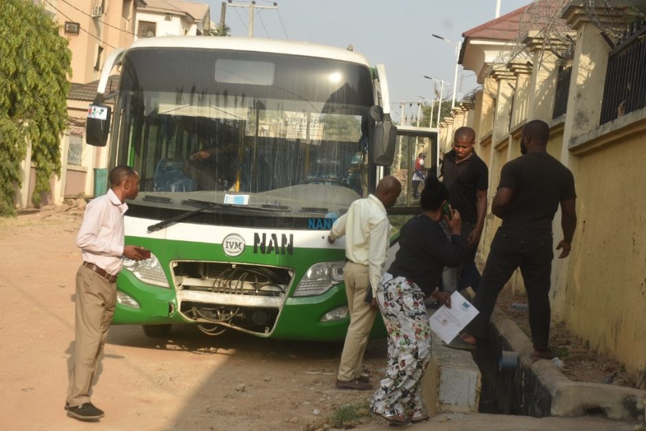
[[(386, 261), (391, 225), (386, 209), (395, 205), (402, 185), (394, 176), (380, 180), (374, 195), (352, 202), (338, 218), (327, 241), (332, 244), (345, 235), (344, 279), (350, 325), (345, 336), (341, 364), (336, 377), (340, 389), (372, 389), (369, 377), (361, 374), (363, 353), (377, 315), (376, 289)], [(371, 303), (366, 302), (368, 289)]]

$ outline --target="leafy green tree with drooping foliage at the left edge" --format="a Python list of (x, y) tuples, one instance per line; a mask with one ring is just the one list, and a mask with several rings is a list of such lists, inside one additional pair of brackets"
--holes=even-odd
[[(28, 25), (25, 25), (28, 23)], [(0, 216), (13, 215), (20, 163), (32, 145), (32, 202), (60, 176), (60, 134), (66, 128), (71, 51), (42, 5), (2, 0), (0, 8)]]

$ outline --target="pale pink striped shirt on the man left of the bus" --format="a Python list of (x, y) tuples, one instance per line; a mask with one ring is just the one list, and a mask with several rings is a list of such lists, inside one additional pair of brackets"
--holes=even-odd
[(92, 200), (85, 208), (83, 223), (76, 236), (83, 260), (117, 275), (124, 255), (124, 213), (128, 205), (112, 189)]

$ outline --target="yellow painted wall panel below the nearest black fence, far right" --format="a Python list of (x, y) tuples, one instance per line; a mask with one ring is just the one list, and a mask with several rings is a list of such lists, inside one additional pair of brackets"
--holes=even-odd
[(579, 225), (563, 317), (627, 369), (646, 363), (646, 183), (641, 131), (579, 160)]

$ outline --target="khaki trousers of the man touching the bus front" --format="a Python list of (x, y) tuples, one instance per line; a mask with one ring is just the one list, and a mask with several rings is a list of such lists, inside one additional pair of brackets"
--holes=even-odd
[(345, 264), (344, 279), (350, 325), (345, 335), (337, 378), (349, 382), (361, 375), (363, 353), (378, 310), (364, 301), (370, 284), (368, 266), (348, 262)]

